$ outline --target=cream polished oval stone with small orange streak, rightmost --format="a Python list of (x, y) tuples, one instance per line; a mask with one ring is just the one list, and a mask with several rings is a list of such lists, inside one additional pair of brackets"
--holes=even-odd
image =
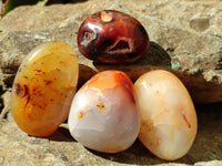
[(159, 158), (175, 160), (191, 148), (198, 118), (192, 98), (172, 73), (151, 71), (134, 84), (141, 111), (139, 138)]

